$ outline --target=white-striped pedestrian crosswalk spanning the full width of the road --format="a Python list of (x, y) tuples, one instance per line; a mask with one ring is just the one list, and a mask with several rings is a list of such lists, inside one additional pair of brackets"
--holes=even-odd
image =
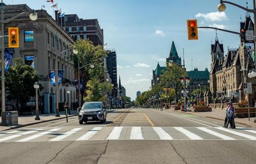
[[(61, 131), (60, 131), (61, 129)], [(55, 132), (55, 133), (53, 133)], [(1, 135), (2, 134), (2, 135)], [(58, 135), (58, 136), (56, 136)], [(0, 133), (0, 142), (83, 140), (256, 140), (256, 130), (222, 127), (94, 126), (19, 129)]]

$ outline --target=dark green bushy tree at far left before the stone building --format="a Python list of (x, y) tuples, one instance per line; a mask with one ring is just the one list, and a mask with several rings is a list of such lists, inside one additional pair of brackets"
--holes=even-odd
[[(33, 86), (40, 78), (38, 72), (33, 67), (25, 65), (20, 58), (14, 59), (14, 63), (5, 76), (6, 97), (24, 106), (30, 97), (35, 96)], [(42, 86), (39, 90), (42, 90)]]

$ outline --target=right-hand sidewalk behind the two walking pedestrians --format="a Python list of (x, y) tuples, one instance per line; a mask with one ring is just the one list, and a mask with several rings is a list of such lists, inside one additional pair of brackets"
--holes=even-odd
[[(225, 109), (212, 109), (212, 112), (183, 112), (180, 110), (172, 110), (172, 111), (186, 113), (186, 114), (189, 113), (189, 114), (193, 114), (198, 117), (208, 117), (208, 118), (214, 118), (217, 120), (223, 120), (223, 124), (224, 124), (224, 120), (225, 120)], [(247, 125), (247, 126), (253, 126), (256, 128), (256, 123), (254, 123), (253, 120), (254, 120), (254, 117), (251, 117), (250, 121), (248, 120), (247, 117), (235, 118), (235, 123), (243, 124), (243, 125)]]

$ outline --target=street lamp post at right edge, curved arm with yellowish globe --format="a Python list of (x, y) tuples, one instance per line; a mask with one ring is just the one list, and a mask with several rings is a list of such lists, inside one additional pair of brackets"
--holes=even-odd
[[(223, 12), (226, 10), (226, 5), (224, 3), (227, 3), (227, 4), (231, 4), (231, 5), (234, 5), (238, 8), (241, 8), (247, 12), (251, 12), (253, 13), (254, 17), (254, 52), (256, 50), (256, 1), (253, 0), (253, 9), (248, 9), (248, 8), (245, 8), (245, 7), (242, 7), (238, 4), (235, 4), (235, 3), (232, 3), (232, 2), (229, 2), (229, 1), (223, 1), (221, 0), (220, 1), (220, 4), (218, 5), (218, 10)], [(252, 70), (251, 72), (248, 73), (248, 77), (249, 78), (254, 78), (256, 77), (256, 63), (255, 63), (255, 70)], [(256, 117), (254, 118), (254, 122), (256, 122)]]

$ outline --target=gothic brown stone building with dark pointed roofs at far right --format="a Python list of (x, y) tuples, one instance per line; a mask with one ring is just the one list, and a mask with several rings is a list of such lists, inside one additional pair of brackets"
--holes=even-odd
[[(247, 14), (245, 22), (240, 22), (240, 30), (253, 30), (253, 22)], [(252, 82), (255, 91), (255, 78), (248, 78), (248, 73), (255, 67), (254, 45), (241, 39), (238, 49), (228, 49), (223, 56), (223, 44), (218, 38), (211, 45), (210, 90), (212, 97), (217, 99), (233, 98), (247, 101), (248, 95), (243, 92), (243, 83)], [(255, 102), (256, 92), (250, 96), (251, 106)]]

